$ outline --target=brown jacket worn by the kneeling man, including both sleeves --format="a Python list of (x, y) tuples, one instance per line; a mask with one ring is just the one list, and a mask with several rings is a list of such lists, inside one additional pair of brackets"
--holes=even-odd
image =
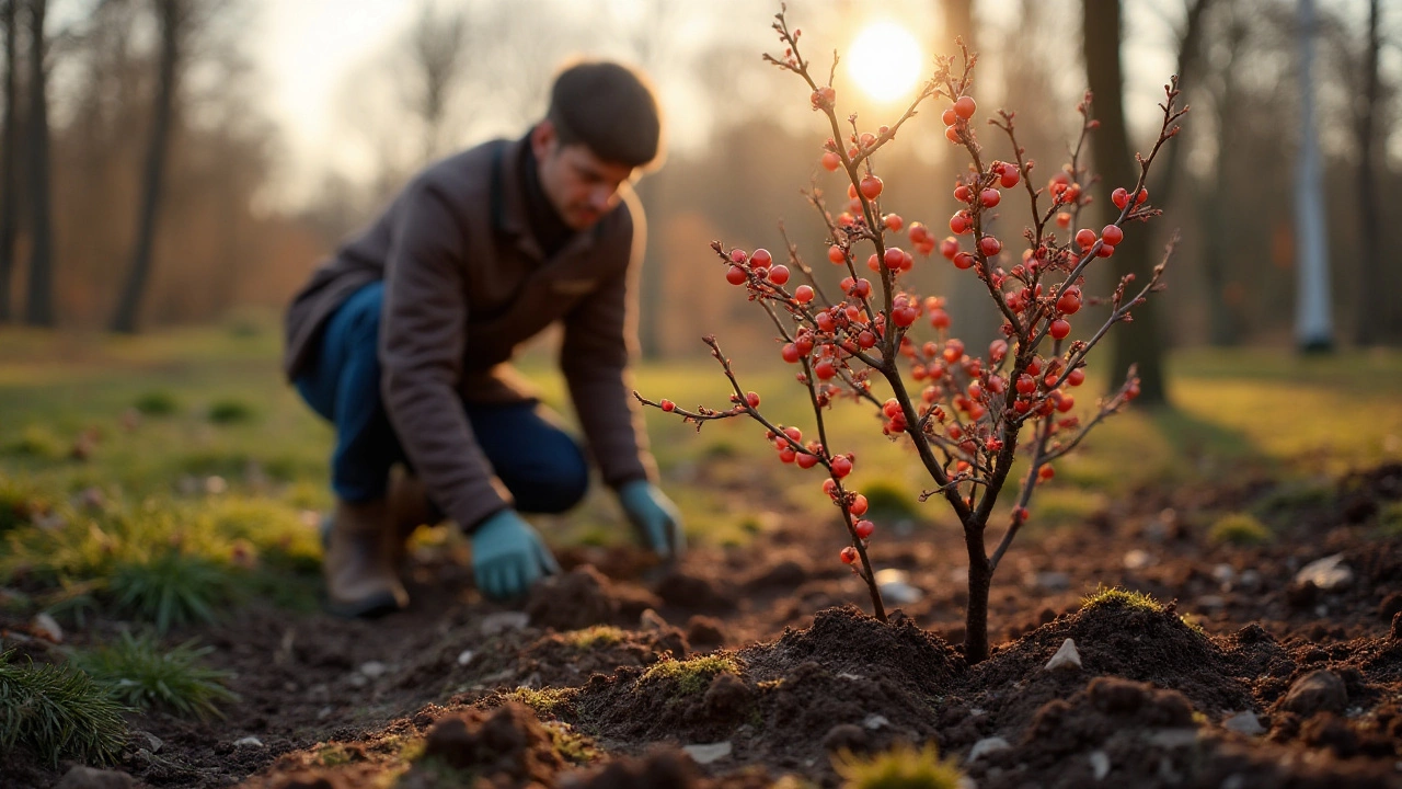
[(489, 142), (421, 173), (369, 230), (317, 268), (286, 320), (283, 368), (293, 379), (331, 313), (384, 279), (384, 407), (429, 496), (464, 528), (512, 498), (461, 402), (529, 399), (508, 361), (557, 320), (559, 366), (604, 482), (655, 476), (627, 372), (642, 211), (625, 191), (618, 208), (543, 260), (520, 188), (527, 145)]

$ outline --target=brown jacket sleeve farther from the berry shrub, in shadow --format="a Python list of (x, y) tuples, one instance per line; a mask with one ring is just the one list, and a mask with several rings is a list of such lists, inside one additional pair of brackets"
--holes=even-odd
[(512, 500), (458, 394), (467, 326), (464, 230), (430, 185), (411, 187), (402, 201), (380, 329), (384, 406), (429, 497), (471, 531)]

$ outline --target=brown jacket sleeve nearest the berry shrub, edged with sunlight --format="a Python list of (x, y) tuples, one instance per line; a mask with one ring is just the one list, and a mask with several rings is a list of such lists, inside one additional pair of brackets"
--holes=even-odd
[(628, 265), (565, 316), (559, 351), (559, 368), (579, 424), (604, 483), (611, 487), (658, 476), (628, 371), (638, 336), (637, 285), (646, 239), (642, 212), (631, 201), (628, 208), (631, 232), (622, 232), (618, 240)]

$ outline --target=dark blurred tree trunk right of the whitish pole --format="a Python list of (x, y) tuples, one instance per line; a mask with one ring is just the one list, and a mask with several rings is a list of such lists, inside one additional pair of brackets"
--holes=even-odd
[(1382, 340), (1388, 324), (1387, 286), (1382, 282), (1382, 226), (1378, 219), (1378, 192), (1373, 168), (1375, 145), (1375, 110), (1378, 105), (1378, 0), (1368, 4), (1368, 44), (1363, 62), (1363, 101), (1359, 108), (1359, 222), (1361, 225), (1363, 263), (1359, 267), (1359, 345), (1373, 345)]

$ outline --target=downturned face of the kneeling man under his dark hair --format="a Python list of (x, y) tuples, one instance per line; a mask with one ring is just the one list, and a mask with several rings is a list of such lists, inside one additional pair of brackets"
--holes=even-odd
[(586, 230), (618, 205), (618, 187), (632, 167), (599, 159), (585, 145), (561, 145), (550, 121), (531, 131), (530, 143), (541, 190), (565, 225)]

